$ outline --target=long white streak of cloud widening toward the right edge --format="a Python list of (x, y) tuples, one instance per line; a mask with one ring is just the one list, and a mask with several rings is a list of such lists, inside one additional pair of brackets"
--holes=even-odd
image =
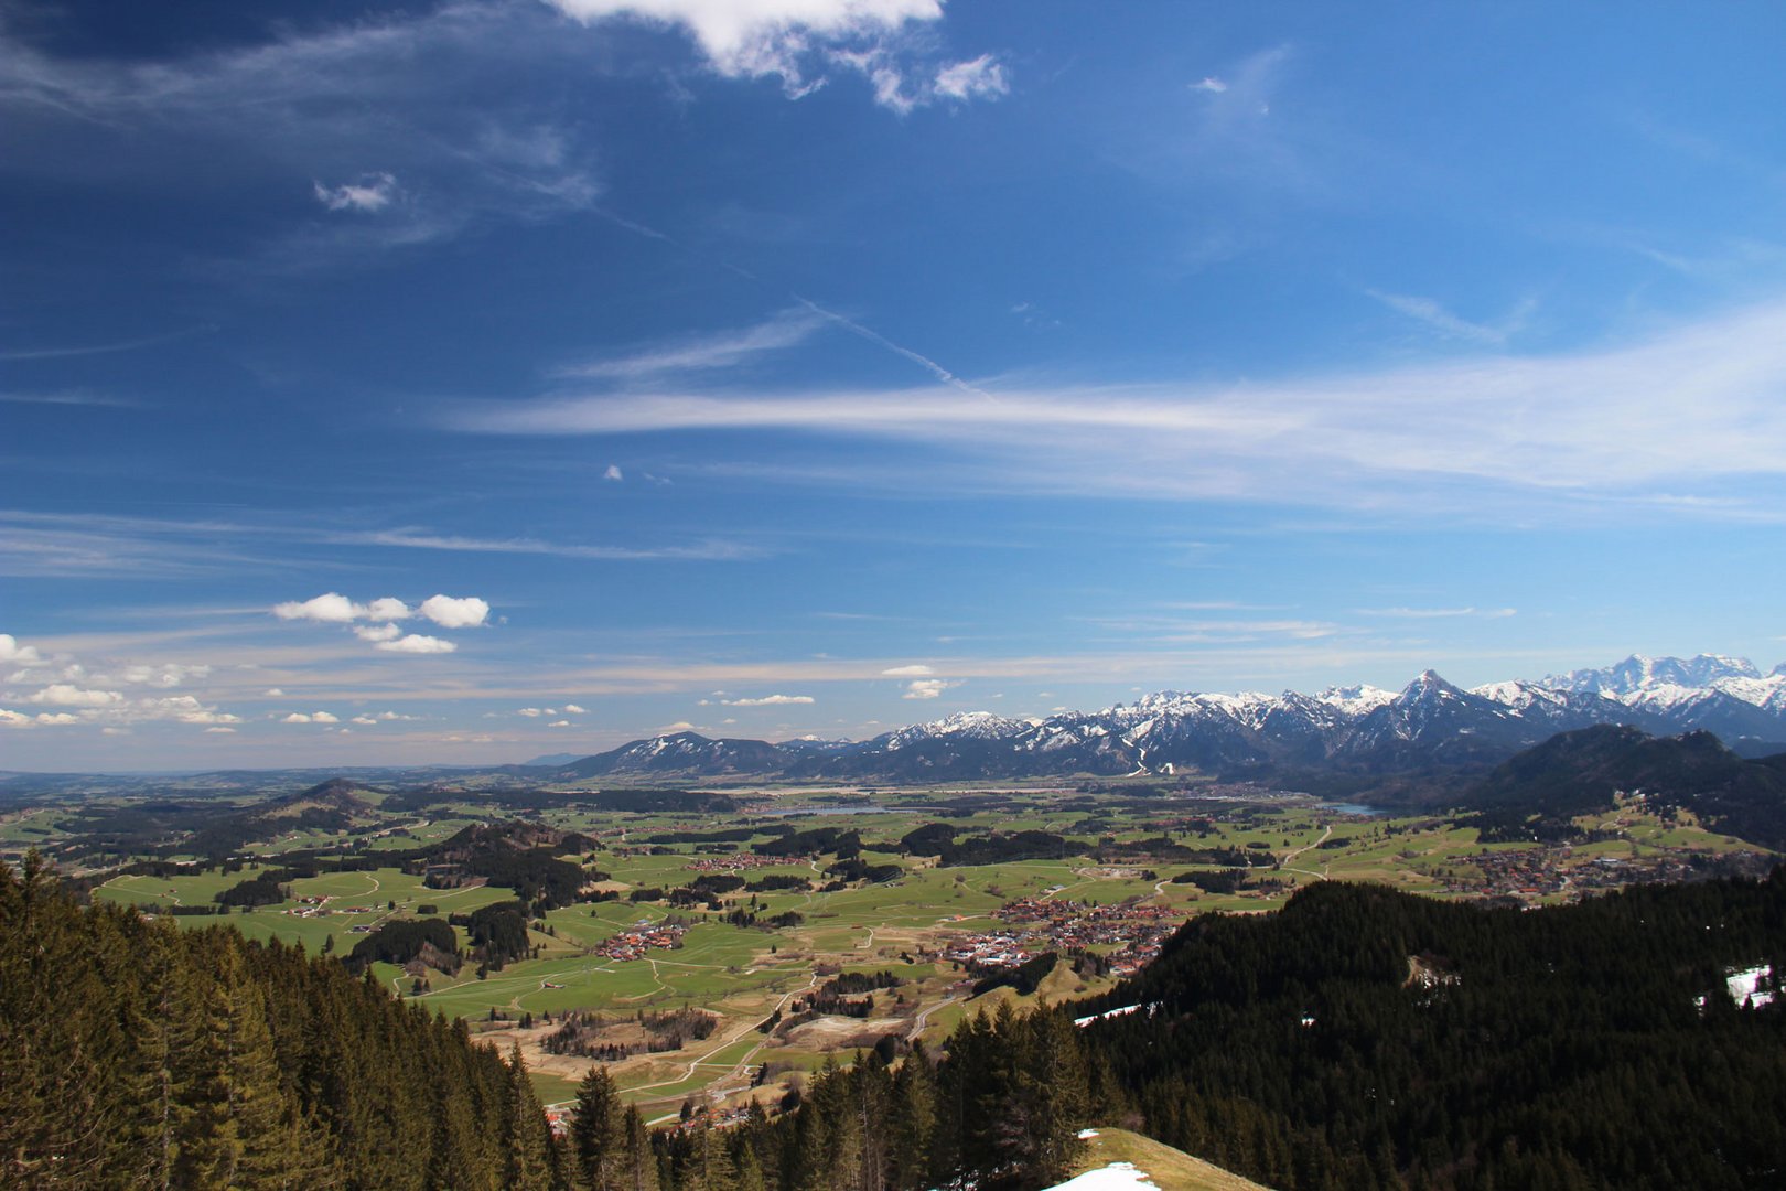
[(1786, 302), (1618, 348), (1232, 386), (1031, 384), (1000, 387), (989, 402), (941, 386), (604, 393), (484, 405), (452, 423), (502, 434), (800, 429), (911, 441), (948, 452), (956, 482), (977, 491), (1761, 520), (1781, 509), (1756, 480), (1786, 480), (1782, 323)]

